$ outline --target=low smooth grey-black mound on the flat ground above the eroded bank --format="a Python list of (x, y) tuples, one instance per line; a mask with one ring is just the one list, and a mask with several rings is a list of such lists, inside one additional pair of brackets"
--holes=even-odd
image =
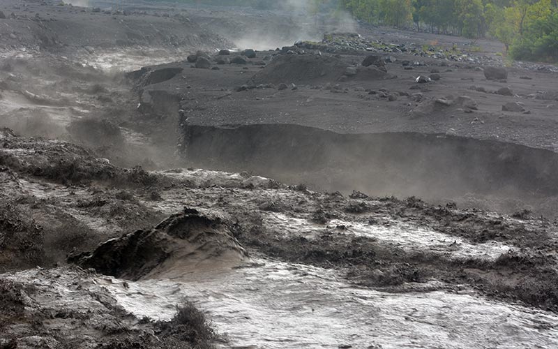
[(347, 68), (341, 59), (310, 54), (283, 54), (252, 77), (255, 84), (334, 82)]

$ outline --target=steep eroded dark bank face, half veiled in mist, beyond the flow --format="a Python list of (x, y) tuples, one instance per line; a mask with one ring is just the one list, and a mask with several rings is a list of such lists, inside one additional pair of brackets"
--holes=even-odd
[[(289, 184), (372, 195), (523, 200), (558, 194), (558, 154), (422, 133), (340, 134), (295, 125), (188, 126), (188, 161)], [(513, 207), (517, 208), (517, 207)]]

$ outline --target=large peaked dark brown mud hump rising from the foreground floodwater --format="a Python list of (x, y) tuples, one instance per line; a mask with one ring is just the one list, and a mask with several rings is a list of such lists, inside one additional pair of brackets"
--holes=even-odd
[(151, 230), (111, 239), (69, 260), (101, 274), (138, 280), (232, 267), (246, 257), (220, 218), (185, 209)]

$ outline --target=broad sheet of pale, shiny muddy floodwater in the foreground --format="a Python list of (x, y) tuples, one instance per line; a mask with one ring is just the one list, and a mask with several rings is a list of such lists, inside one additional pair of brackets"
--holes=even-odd
[[(171, 318), (182, 297), (207, 309), (223, 348), (556, 348), (558, 316), (472, 291), (389, 293), (335, 272), (254, 258), (168, 280), (98, 279), (138, 317)], [(423, 285), (424, 287), (424, 285)]]

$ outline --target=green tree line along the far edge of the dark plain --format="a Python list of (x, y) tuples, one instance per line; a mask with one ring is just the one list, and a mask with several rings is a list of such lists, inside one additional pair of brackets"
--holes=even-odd
[(514, 59), (558, 61), (558, 0), (339, 0), (371, 24), (497, 38)]

